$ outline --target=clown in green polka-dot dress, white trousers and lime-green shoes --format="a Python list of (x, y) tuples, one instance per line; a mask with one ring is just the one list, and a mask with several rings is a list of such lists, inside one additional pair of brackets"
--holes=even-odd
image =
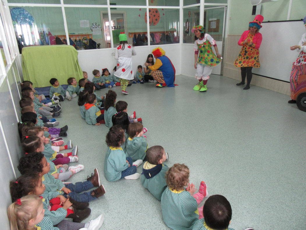
[[(191, 32), (195, 34), (194, 68), (196, 69), (196, 79), (199, 80), (193, 90), (206, 92), (206, 84), (212, 68), (220, 64), (222, 56), (219, 54), (216, 41), (209, 34), (204, 33), (205, 28), (202, 25), (192, 27)], [(215, 48), (217, 56), (212, 51), (211, 46)]]

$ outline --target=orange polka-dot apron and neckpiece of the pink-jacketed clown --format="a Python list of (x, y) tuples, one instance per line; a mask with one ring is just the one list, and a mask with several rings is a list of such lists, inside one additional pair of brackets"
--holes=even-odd
[[(248, 43), (253, 41), (253, 36), (250, 33), (248, 34), (247, 40)], [(236, 67), (260, 67), (259, 63), (259, 50), (254, 49), (248, 45), (244, 45), (241, 48), (240, 54), (238, 55), (236, 61), (234, 62)]]

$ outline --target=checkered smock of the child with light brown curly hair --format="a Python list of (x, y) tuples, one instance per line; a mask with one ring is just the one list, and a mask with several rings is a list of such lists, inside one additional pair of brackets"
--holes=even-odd
[(198, 220), (196, 199), (186, 190), (172, 191), (167, 187), (162, 193), (162, 218), (165, 224), (174, 230), (187, 230)]

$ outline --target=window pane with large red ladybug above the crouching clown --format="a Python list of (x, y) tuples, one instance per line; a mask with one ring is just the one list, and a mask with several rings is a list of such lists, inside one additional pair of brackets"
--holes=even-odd
[(179, 9), (149, 9), (151, 45), (179, 42)]

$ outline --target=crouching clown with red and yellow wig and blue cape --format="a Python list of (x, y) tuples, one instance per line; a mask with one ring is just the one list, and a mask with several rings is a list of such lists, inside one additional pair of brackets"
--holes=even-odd
[(153, 66), (150, 66), (149, 63), (144, 63), (145, 66), (150, 69), (151, 75), (158, 82), (156, 87), (174, 87), (175, 81), (175, 68), (171, 60), (165, 56), (166, 52), (157, 47), (152, 51), (156, 61)]

